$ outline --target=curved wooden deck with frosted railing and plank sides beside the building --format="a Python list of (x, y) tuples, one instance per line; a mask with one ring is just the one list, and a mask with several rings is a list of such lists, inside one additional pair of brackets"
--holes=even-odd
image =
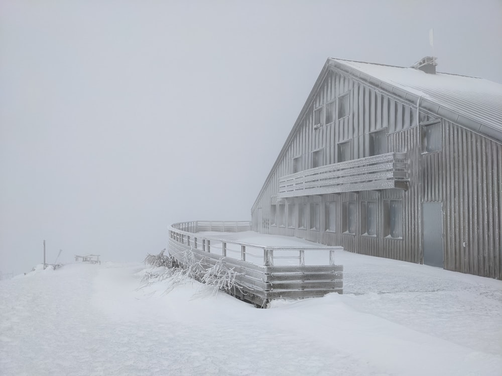
[[(265, 307), (272, 299), (342, 293), (343, 266), (334, 264), (334, 251), (342, 247), (269, 247), (197, 234), (197, 230), (218, 231), (215, 229), (223, 228), (225, 232), (249, 231), (250, 226), (250, 222), (194, 221), (173, 224), (169, 228), (169, 255), (180, 267), (186, 266), (187, 254), (205, 268), (220, 263), (236, 273), (235, 281), (239, 288), (227, 293), (260, 307)], [(325, 253), (325, 265), (305, 265), (310, 253), (315, 251)], [(262, 260), (260, 264), (256, 261), (258, 259)], [(290, 265), (275, 265), (278, 263)]]

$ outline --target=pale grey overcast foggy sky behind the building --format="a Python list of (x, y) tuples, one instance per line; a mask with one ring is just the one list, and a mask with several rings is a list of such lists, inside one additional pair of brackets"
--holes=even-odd
[[(0, 271), (249, 220), (327, 57), (502, 82), (502, 1), (0, 0)], [(434, 28), (434, 52), (429, 29)]]

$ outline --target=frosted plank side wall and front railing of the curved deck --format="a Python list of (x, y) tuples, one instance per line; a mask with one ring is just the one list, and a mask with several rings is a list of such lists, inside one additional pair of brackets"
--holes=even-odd
[[(170, 227), (168, 249), (175, 267), (192, 270), (195, 265), (202, 268), (197, 273), (192, 273), (201, 282), (209, 281), (216, 288), (258, 306), (266, 306), (269, 300), (281, 297), (308, 298), (343, 291), (343, 266), (334, 265), (333, 257), (333, 251), (342, 249), (341, 247), (268, 247), (177, 230), (197, 228), (196, 222), (191, 224), (188, 226), (179, 223)], [(199, 248), (195, 247), (195, 242), (190, 242), (190, 239), (195, 238), (198, 239)], [(202, 244), (208, 243), (221, 243), (222, 252), (215, 253), (219, 252), (215, 247), (211, 248), (211, 252), (208, 252), (207, 247), (202, 248)], [(241, 249), (239, 258), (223, 254), (223, 250), (228, 252), (229, 247)], [(246, 252), (242, 252), (242, 249), (253, 249), (253, 252), (261, 250), (263, 263), (246, 261)], [(274, 251), (289, 255), (275, 256)], [(309, 251), (325, 252), (326, 265), (304, 265), (305, 254)], [(276, 263), (278, 260), (289, 260), (297, 265), (274, 266), (274, 260)], [(224, 278), (221, 278), (222, 275)]]

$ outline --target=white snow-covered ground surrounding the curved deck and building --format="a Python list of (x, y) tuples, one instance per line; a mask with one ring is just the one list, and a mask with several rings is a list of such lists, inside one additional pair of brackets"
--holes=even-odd
[(336, 259), (344, 295), (270, 309), (194, 297), (198, 283), (137, 290), (141, 264), (1, 281), (0, 374), (502, 374), (502, 281), (343, 251)]

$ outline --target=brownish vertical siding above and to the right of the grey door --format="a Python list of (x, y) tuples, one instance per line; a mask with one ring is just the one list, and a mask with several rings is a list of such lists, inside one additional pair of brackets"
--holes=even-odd
[(444, 268), (502, 279), (502, 146), (449, 121), (422, 155), (424, 202), (443, 202)]

